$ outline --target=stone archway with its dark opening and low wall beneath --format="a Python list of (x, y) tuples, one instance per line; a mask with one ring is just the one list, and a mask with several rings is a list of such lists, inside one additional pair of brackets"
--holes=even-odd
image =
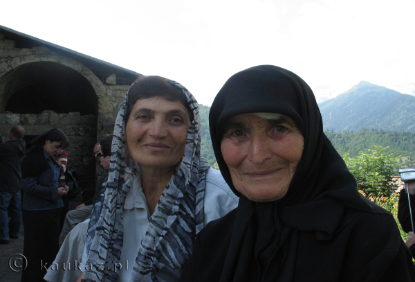
[(30, 140), (53, 127), (64, 130), (71, 141), (68, 165), (77, 171), (82, 186), (93, 187), (91, 152), (97, 141), (99, 100), (105, 100), (107, 90), (80, 62), (44, 47), (33, 50), (39, 48), (40, 54), (8, 60), (7, 71), (0, 72), (0, 115), (5, 120), (0, 133), (20, 124)]

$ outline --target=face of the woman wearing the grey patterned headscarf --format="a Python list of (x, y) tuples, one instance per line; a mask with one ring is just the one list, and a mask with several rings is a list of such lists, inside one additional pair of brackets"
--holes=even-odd
[(127, 121), (128, 150), (142, 168), (174, 168), (185, 153), (189, 125), (189, 113), (179, 101), (138, 100)]

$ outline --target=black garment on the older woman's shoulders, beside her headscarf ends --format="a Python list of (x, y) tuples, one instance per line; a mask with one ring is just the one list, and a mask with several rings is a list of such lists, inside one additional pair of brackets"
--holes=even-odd
[[(219, 281), (236, 214), (234, 209), (210, 222), (196, 236), (194, 252), (180, 282)], [(391, 215), (347, 208), (338, 224), (331, 238), (320, 237), (318, 231), (293, 233), (292, 238), (297, 238), (293, 281), (415, 281), (411, 255)], [(243, 281), (259, 280), (247, 277)]]

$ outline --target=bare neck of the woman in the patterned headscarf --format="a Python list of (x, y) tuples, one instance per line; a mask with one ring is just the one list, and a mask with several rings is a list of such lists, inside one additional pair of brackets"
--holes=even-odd
[(156, 209), (156, 204), (160, 200), (161, 194), (169, 183), (175, 168), (141, 168), (142, 191), (147, 199), (147, 206), (151, 214)]

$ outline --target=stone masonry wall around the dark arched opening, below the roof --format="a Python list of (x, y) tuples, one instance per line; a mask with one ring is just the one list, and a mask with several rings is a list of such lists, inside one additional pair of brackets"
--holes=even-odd
[[(125, 80), (122, 82), (123, 79), (118, 79), (116, 73), (109, 76), (95, 74), (73, 58), (51, 51), (46, 46), (18, 48), (15, 41), (0, 33), (0, 135), (7, 136), (8, 130), (16, 124), (22, 125), (28, 136), (38, 135), (53, 127), (63, 130), (71, 141), (68, 165), (77, 172), (81, 184), (89, 186), (95, 182), (93, 145), (105, 134), (113, 133), (113, 125), (129, 85), (124, 85)], [(76, 110), (68, 114), (59, 114), (53, 109), (41, 114), (6, 112), (7, 102), (13, 94), (22, 87), (35, 85), (38, 78), (45, 77), (37, 71), (42, 66), (44, 69), (45, 63), (48, 66), (53, 64), (54, 70), (70, 68), (88, 80), (94, 92), (91, 95), (98, 98), (98, 105), (91, 105), (98, 107), (98, 116), (81, 116)], [(95, 66), (96, 72), (100, 67), (104, 68), (105, 64), (93, 62), (91, 66)], [(25, 101), (22, 100), (21, 103)], [(79, 103), (84, 102), (80, 99)]]

